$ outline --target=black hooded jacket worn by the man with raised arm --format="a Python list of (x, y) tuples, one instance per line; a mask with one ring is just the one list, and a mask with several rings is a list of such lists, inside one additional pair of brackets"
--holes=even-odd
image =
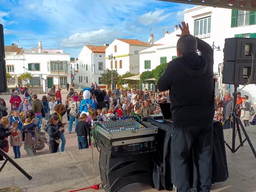
[(170, 90), (173, 126), (198, 127), (213, 122), (213, 49), (196, 38), (197, 53), (172, 60), (158, 81), (160, 91)]

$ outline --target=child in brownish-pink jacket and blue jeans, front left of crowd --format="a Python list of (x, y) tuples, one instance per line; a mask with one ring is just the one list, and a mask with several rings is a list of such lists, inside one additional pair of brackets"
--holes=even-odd
[(13, 148), (14, 159), (21, 158), (22, 133), (18, 129), (18, 122), (14, 121), (10, 128), (15, 128), (15, 131), (10, 136), (10, 146)]

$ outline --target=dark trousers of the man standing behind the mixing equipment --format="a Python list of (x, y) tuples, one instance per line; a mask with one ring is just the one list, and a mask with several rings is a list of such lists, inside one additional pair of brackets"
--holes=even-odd
[(213, 125), (205, 127), (173, 127), (171, 140), (171, 176), (178, 192), (190, 192), (193, 174), (189, 169), (189, 157), (197, 171), (197, 191), (210, 192), (212, 183)]

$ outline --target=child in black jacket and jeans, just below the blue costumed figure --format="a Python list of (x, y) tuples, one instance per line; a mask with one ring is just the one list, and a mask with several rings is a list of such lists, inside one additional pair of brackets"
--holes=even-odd
[(87, 115), (83, 113), (78, 118), (78, 123), (76, 125), (76, 135), (77, 135), (77, 141), (78, 141), (78, 149), (87, 149), (89, 148), (88, 144), (88, 136), (90, 136), (91, 128), (87, 121)]

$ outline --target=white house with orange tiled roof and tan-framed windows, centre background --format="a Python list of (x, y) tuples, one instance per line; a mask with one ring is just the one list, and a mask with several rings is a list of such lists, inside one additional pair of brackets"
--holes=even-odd
[[(154, 43), (154, 40), (151, 41)], [(133, 74), (139, 73), (139, 55), (138, 53), (153, 45), (137, 39), (115, 39), (106, 48), (106, 68), (117, 70), (119, 75), (126, 72)], [(109, 60), (108, 56), (113, 56), (113, 60)]]

